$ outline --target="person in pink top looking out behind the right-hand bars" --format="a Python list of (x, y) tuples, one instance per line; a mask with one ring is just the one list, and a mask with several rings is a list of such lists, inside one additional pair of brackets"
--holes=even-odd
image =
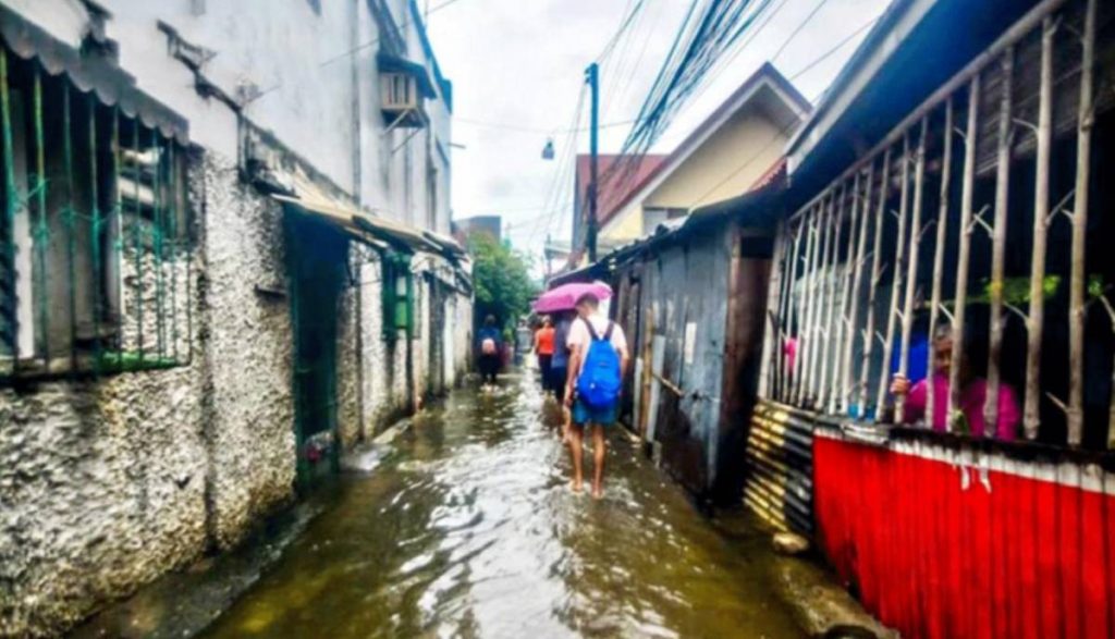
[[(949, 372), (953, 366), (960, 366), (960, 406), (968, 424), (968, 432), (977, 437), (987, 433), (983, 420), (983, 405), (987, 400), (987, 380), (972, 378), (966, 362), (952, 361), (952, 327), (942, 325), (933, 333), (933, 415), (929, 420), (934, 430), (946, 430), (949, 406)], [(917, 384), (901, 375), (895, 375), (891, 381), (891, 394), (905, 399), (904, 420), (917, 423), (925, 417), (925, 398), (929, 385), (924, 379)], [(1021, 422), (1021, 410), (1015, 390), (1007, 384), (999, 386), (999, 423), (995, 425), (996, 438), (1005, 442), (1015, 439), (1018, 424)]]

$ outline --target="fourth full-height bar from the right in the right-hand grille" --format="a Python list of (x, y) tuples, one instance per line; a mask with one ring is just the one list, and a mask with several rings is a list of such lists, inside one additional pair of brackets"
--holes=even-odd
[(960, 246), (957, 252), (957, 293), (952, 312), (952, 366), (949, 367), (949, 407), (946, 427), (956, 427), (960, 406), (960, 369), (964, 358), (964, 316), (968, 306), (968, 265), (971, 260), (972, 197), (976, 190), (976, 142), (979, 135), (980, 76), (972, 76), (968, 88), (968, 126), (964, 133), (964, 172), (960, 183)]

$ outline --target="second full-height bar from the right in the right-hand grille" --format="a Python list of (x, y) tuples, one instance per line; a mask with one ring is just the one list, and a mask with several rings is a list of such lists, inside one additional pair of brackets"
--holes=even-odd
[(1045, 265), (1049, 227), (1049, 161), (1053, 151), (1054, 20), (1041, 21), (1041, 69), (1038, 86), (1037, 149), (1034, 167), (1034, 250), (1030, 255), (1030, 306), (1026, 313), (1026, 395), (1022, 428), (1027, 439), (1038, 436), (1041, 423), (1041, 335), (1045, 332)]

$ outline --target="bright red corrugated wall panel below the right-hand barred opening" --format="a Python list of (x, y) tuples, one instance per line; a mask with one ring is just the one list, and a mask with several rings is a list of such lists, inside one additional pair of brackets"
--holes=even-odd
[(1115, 637), (1115, 475), (825, 430), (813, 454), (818, 542), (903, 637)]

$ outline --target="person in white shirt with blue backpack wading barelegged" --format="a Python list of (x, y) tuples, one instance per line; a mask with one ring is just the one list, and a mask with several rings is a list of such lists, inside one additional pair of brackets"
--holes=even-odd
[(592, 496), (600, 498), (604, 494), (604, 428), (618, 418), (620, 388), (630, 356), (623, 329), (600, 313), (597, 296), (582, 296), (576, 302), (576, 313), (566, 339), (570, 358), (565, 385), (565, 405), (573, 414), (570, 428), (573, 492), (581, 492), (584, 483), (584, 429), (594, 426)]

